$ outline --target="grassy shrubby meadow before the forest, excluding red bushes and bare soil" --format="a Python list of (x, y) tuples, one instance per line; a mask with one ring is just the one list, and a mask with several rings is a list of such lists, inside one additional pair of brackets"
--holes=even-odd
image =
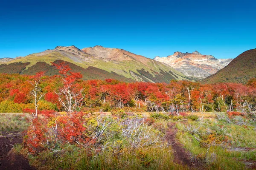
[[(15, 152), (26, 156), (29, 163), (40, 170), (244, 170), (255, 167), (256, 121), (248, 115), (112, 112), (90, 113), (83, 119), (87, 119), (86, 133), (97, 136), (91, 144), (56, 139), (50, 145), (46, 142), (35, 154), (23, 144), (15, 145)], [(29, 115), (1, 113), (0, 122), (1, 131), (23, 131), (29, 126)], [(173, 145), (166, 139), (170, 123), (174, 123), (177, 130), (175, 142), (188, 153), (194, 166), (176, 161)]]

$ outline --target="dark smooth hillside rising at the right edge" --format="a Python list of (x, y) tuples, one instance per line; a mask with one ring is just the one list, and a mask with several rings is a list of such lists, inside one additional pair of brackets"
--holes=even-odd
[(256, 77), (256, 48), (243, 52), (226, 67), (202, 80), (202, 82), (246, 83), (253, 77)]

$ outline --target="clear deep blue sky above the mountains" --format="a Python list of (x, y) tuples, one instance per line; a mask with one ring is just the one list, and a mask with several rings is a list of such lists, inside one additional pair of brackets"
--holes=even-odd
[(256, 48), (254, 0), (3, 0), (0, 58), (102, 45), (154, 58)]

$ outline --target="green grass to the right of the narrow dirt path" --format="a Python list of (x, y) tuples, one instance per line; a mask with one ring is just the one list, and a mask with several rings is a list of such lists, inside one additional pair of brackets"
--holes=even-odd
[(256, 159), (255, 150), (246, 150), (247, 147), (256, 149), (255, 127), (236, 125), (233, 119), (230, 123), (212, 118), (179, 122), (177, 139), (207, 169), (247, 169), (244, 161)]

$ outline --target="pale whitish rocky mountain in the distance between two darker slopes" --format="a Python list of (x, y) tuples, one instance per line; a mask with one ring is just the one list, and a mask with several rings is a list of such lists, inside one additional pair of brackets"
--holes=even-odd
[(232, 59), (216, 59), (211, 55), (202, 55), (198, 51), (192, 53), (175, 52), (167, 57), (155, 57), (189, 77), (203, 79), (224, 68)]

